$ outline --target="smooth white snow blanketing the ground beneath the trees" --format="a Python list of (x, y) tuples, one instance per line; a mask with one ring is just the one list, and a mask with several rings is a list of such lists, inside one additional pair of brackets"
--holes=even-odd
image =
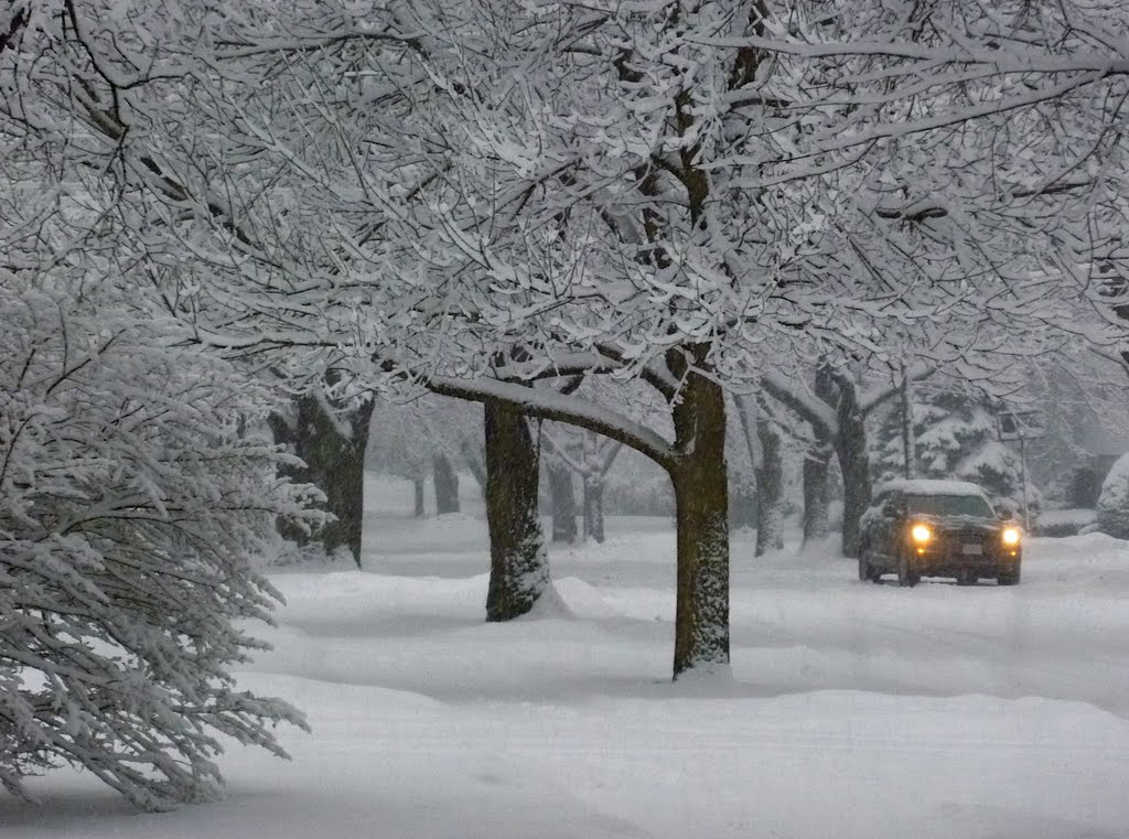
[[(89, 776), (0, 797), (40, 839), (1126, 839), (1129, 545), (1033, 540), (1023, 583), (858, 582), (734, 538), (729, 683), (669, 681), (673, 539), (611, 519), (560, 602), (483, 622), (485, 527), (370, 481), (365, 570), (288, 569), (240, 673), (303, 707), (218, 804), (139, 814)], [(2, 794), (0, 794), (2, 796)]]

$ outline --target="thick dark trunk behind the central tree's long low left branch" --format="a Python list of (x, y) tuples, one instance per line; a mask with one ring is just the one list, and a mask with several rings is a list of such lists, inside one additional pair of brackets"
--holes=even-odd
[(549, 559), (537, 517), (540, 452), (517, 411), (485, 404), (487, 524), (490, 584), (487, 620), (528, 612), (549, 586)]

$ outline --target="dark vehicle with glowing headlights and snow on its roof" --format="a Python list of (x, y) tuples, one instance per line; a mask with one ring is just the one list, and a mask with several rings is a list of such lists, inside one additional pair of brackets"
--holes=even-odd
[(966, 481), (900, 480), (883, 484), (863, 514), (858, 576), (898, 584), (956, 577), (962, 585), (995, 577), (1019, 582), (1019, 527), (998, 516), (980, 487)]

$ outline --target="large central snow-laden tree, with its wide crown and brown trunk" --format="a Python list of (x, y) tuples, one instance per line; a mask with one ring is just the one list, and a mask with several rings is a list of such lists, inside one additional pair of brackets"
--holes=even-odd
[[(863, 364), (891, 325), (946, 364), (1033, 351), (1118, 259), (1112, 3), (89, 6), (37, 5), (62, 11), (27, 32), (67, 47), (131, 222), (191, 255), (198, 334), (653, 457), (675, 673), (728, 659), (726, 387)], [(155, 8), (160, 37), (138, 33)], [(653, 386), (673, 435), (528, 386), (597, 373)]]

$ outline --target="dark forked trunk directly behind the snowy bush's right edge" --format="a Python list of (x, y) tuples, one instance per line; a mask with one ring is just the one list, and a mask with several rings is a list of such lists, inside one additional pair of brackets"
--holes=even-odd
[(288, 446), (306, 462), (305, 469), (286, 473), (322, 490), (325, 509), (336, 516), (336, 521), (309, 535), (286, 524), (280, 525), (280, 532), (299, 544), (320, 541), (326, 553), (344, 545), (358, 567), (365, 515), (365, 446), (373, 404), (367, 400), (351, 411), (330, 416), (321, 399), (303, 395), (295, 397), (291, 417), (278, 413), (270, 417), (274, 442)]

